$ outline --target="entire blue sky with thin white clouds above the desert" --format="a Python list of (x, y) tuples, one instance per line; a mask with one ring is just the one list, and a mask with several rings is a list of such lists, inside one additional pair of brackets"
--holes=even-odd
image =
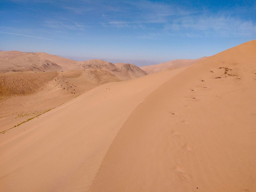
[(164, 62), (256, 39), (256, 0), (0, 0), (0, 50)]

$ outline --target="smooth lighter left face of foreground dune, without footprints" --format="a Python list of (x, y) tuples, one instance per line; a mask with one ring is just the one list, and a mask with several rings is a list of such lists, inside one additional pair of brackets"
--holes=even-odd
[(0, 191), (87, 190), (134, 108), (182, 70), (104, 84), (0, 134)]

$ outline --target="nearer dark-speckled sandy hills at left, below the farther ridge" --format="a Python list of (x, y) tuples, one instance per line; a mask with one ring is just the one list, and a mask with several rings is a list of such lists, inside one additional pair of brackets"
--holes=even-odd
[(121, 81), (101, 69), (0, 74), (0, 132), (96, 86)]

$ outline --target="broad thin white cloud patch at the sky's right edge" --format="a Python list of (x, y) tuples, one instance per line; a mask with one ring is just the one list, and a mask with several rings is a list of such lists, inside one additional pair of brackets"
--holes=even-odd
[(177, 18), (166, 24), (164, 31), (187, 36), (252, 36), (256, 34), (256, 25), (231, 16), (194, 16)]

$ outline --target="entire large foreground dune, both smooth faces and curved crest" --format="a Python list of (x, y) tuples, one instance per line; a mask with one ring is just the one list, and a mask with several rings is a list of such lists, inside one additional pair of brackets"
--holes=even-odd
[(106, 83), (0, 134), (0, 191), (256, 191), (255, 53)]

